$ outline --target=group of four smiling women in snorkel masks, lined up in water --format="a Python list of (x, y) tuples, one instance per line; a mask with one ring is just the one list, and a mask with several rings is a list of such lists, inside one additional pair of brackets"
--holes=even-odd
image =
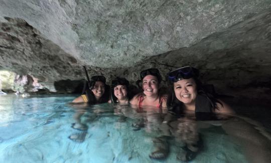
[[(171, 71), (168, 76), (171, 90), (169, 95), (165, 95), (160, 91), (162, 77), (159, 70), (156, 68), (147, 69), (140, 73), (140, 83), (142, 83), (140, 87), (142, 92), (133, 97), (129, 91), (129, 82), (125, 78), (116, 77), (113, 79), (109, 92), (108, 86), (105, 84), (105, 77), (93, 76), (89, 84), (90, 88), (85, 91), (84, 95), (74, 99), (73, 102), (131, 104), (133, 108), (137, 109), (137, 112), (142, 112), (146, 106), (151, 106), (156, 113), (166, 113), (169, 111), (164, 117), (160, 116), (160, 114), (151, 114), (150, 117), (147, 117), (147, 121), (157, 122), (163, 131), (167, 128), (165, 126), (169, 126), (169, 124), (173, 126), (172, 128), (175, 125), (175, 128), (178, 130), (177, 132), (176, 130), (172, 131), (172, 128), (167, 128), (166, 130), (170, 130), (169, 132), (172, 132), (172, 135), (177, 135), (176, 138), (181, 139), (182, 143), (186, 144), (185, 147), (187, 150), (179, 154), (179, 159), (189, 160), (191, 159), (191, 154), (187, 154), (187, 151), (190, 151), (190, 153), (197, 151), (195, 144), (197, 144), (199, 137), (195, 132), (196, 136), (194, 136), (193, 140), (184, 140), (183, 137), (187, 128), (182, 128), (184, 123), (176, 121), (176, 119), (187, 112), (193, 114), (196, 118), (205, 117), (207, 119), (215, 117), (217, 113), (234, 113), (223, 101), (216, 99), (212, 94), (204, 90), (198, 76), (198, 70), (190, 66)], [(108, 94), (110, 95), (110, 99)], [(162, 120), (160, 120), (161, 118)], [(144, 118), (139, 120), (140, 123), (146, 121)], [(137, 123), (133, 125), (137, 129), (143, 126)], [(165, 135), (168, 136), (168, 133)], [(168, 154), (168, 143), (165, 136), (154, 138), (154, 144), (156, 149), (150, 154), (150, 157), (155, 159), (165, 158)]]

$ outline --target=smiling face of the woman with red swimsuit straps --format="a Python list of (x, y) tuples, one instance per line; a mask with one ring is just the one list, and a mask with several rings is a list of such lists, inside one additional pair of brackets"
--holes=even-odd
[(146, 96), (157, 96), (159, 83), (156, 76), (147, 75), (143, 78), (142, 88)]

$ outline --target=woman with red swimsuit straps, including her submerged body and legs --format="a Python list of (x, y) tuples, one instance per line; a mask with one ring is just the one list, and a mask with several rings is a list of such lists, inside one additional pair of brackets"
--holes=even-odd
[[(146, 114), (142, 114), (143, 117), (138, 119), (138, 122), (133, 123), (132, 126), (134, 130), (145, 127), (147, 133), (152, 135), (154, 145), (154, 151), (149, 156), (154, 159), (162, 159), (168, 154), (168, 143), (165, 138), (156, 137), (161, 132), (159, 128), (164, 113), (167, 112), (167, 96), (162, 95), (159, 90), (162, 77), (156, 68), (142, 71), (140, 77), (143, 93), (135, 95), (130, 104), (136, 105), (137, 112), (146, 112)], [(153, 137), (154, 135), (155, 137)]]

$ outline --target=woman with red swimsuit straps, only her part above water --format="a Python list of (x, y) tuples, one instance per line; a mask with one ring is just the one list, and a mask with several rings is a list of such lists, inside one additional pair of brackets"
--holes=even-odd
[(160, 72), (156, 68), (144, 70), (140, 73), (143, 93), (135, 95), (130, 104), (142, 106), (155, 106), (159, 110), (166, 108), (167, 96), (161, 95), (159, 86), (162, 81)]

